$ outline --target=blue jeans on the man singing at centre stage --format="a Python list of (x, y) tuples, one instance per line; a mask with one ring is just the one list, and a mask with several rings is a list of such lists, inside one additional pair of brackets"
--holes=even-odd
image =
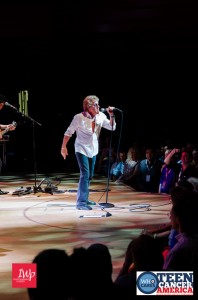
[(76, 159), (80, 169), (80, 178), (77, 191), (77, 205), (86, 205), (89, 200), (89, 184), (94, 175), (96, 155), (92, 158), (76, 152)]

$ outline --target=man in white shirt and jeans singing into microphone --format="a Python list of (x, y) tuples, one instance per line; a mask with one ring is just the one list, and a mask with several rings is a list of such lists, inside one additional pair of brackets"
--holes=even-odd
[(80, 169), (80, 178), (77, 191), (76, 208), (80, 210), (91, 210), (90, 205), (95, 205), (89, 200), (89, 184), (94, 175), (96, 155), (99, 148), (99, 135), (101, 128), (115, 130), (114, 107), (106, 109), (107, 116), (99, 111), (99, 98), (91, 95), (83, 100), (83, 112), (76, 114), (64, 133), (61, 146), (61, 155), (64, 159), (68, 155), (67, 143), (76, 132), (75, 155)]

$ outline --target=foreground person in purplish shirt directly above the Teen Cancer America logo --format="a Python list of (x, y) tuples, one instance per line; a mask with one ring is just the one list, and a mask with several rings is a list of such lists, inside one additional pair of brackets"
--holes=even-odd
[(198, 274), (198, 194), (183, 187), (176, 187), (173, 193), (175, 200), (170, 220), (172, 228), (178, 232), (177, 242), (168, 252), (163, 269)]

